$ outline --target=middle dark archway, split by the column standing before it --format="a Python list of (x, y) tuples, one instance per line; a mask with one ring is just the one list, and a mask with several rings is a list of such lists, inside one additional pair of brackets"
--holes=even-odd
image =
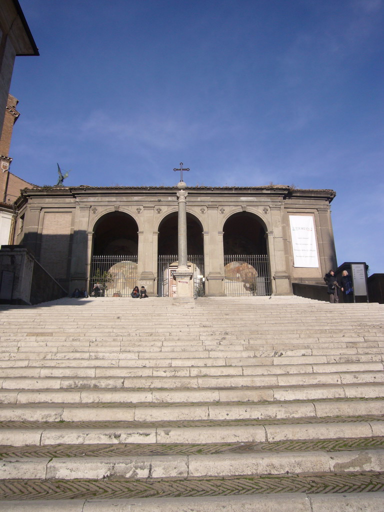
[[(187, 213), (187, 260), (193, 272), (193, 294), (204, 295), (204, 242), (200, 221)], [(173, 274), (178, 263), (178, 212), (165, 217), (159, 225), (158, 295), (175, 296)]]

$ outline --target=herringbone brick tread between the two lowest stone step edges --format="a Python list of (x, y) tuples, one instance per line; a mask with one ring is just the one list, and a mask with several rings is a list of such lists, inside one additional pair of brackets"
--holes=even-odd
[(1, 480), (0, 500), (128, 499), (254, 494), (362, 493), (384, 490), (384, 474), (276, 475), (146, 480)]

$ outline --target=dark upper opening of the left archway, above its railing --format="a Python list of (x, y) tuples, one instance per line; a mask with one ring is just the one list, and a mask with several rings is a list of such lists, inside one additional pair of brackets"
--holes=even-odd
[(138, 253), (138, 225), (129, 214), (111, 211), (101, 216), (93, 228), (93, 255)]

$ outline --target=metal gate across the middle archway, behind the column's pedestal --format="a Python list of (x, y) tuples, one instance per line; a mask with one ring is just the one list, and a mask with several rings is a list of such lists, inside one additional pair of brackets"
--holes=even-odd
[[(159, 255), (157, 265), (157, 293), (159, 297), (172, 296), (172, 275), (177, 268), (177, 254)], [(187, 256), (188, 266), (193, 272), (194, 296), (204, 296), (204, 256), (190, 254)], [(174, 268), (173, 268), (174, 267)]]

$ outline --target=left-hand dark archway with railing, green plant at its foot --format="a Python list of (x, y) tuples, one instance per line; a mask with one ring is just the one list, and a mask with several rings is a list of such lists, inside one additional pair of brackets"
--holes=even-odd
[(120, 211), (101, 217), (94, 227), (90, 293), (98, 282), (103, 296), (129, 296), (137, 284), (138, 226)]

